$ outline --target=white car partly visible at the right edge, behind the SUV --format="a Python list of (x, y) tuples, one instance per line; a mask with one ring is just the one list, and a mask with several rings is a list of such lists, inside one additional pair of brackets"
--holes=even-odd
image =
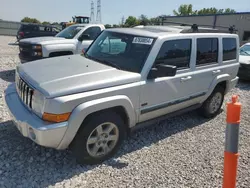
[(239, 62), (238, 77), (242, 80), (250, 80), (250, 43), (241, 46)]

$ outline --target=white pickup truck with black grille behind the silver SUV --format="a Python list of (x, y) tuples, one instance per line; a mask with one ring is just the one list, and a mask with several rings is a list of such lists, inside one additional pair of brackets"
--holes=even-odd
[(55, 37), (35, 37), (19, 42), (21, 63), (43, 58), (80, 54), (105, 29), (102, 24), (76, 24), (65, 28)]

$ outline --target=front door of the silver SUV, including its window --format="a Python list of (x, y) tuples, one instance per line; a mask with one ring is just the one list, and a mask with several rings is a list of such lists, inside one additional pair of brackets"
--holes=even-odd
[[(191, 64), (192, 38), (165, 41), (155, 64), (175, 65), (177, 74), (147, 80), (141, 87), (140, 122), (177, 111), (195, 104), (196, 80), (193, 79)], [(197, 96), (195, 96), (197, 95)]]

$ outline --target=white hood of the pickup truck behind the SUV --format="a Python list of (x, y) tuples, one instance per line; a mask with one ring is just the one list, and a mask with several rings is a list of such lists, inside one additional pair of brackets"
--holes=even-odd
[(65, 44), (65, 43), (74, 43), (76, 39), (65, 39), (62, 37), (34, 37), (20, 40), (21, 43), (28, 44)]

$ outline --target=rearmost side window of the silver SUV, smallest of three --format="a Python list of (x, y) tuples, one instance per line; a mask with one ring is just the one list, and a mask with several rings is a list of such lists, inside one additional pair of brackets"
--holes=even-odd
[(235, 38), (223, 38), (223, 61), (236, 59), (236, 39)]

